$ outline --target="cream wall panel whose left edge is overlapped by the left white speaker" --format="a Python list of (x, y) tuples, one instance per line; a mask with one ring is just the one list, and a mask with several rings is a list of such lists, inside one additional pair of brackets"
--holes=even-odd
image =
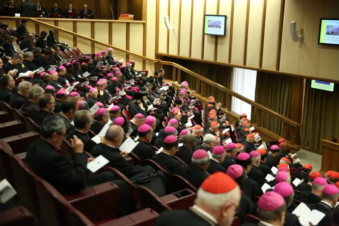
[(170, 4), (170, 23), (174, 30), (169, 32), (168, 50), (171, 55), (178, 55), (179, 33), (180, 33), (180, 0), (171, 0)]

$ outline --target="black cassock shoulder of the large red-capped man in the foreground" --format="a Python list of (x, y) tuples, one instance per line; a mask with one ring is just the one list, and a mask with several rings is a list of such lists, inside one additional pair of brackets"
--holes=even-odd
[[(189, 222), (189, 223), (188, 223)], [(216, 224), (196, 210), (170, 210), (162, 212), (155, 221), (155, 226), (216, 226)]]

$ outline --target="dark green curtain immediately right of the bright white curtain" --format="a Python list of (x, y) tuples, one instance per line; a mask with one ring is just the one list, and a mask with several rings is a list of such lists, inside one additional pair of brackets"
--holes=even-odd
[[(290, 76), (258, 71), (254, 101), (288, 117), (290, 82)], [(253, 123), (257, 122), (257, 114), (255, 109), (254, 117), (251, 119)], [(265, 112), (261, 113), (260, 126), (280, 136), (283, 135), (283, 122)]]

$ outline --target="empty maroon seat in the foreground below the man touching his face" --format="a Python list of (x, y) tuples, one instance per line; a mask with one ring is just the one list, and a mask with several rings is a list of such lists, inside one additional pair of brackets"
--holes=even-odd
[[(117, 215), (121, 190), (113, 183), (104, 183), (86, 189), (83, 193), (91, 191), (92, 194), (70, 202), (40, 178), (35, 178), (35, 186), (40, 203), (42, 225), (70, 225), (69, 210), (74, 208), (94, 223), (109, 221)], [(75, 195), (71, 197), (74, 198)]]

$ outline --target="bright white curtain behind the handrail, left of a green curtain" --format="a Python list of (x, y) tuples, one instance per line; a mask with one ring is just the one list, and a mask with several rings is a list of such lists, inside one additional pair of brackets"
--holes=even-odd
[[(233, 68), (233, 85), (232, 90), (254, 101), (256, 93), (257, 71)], [(238, 115), (245, 113), (247, 119), (251, 120), (251, 105), (232, 97), (232, 111)]]

